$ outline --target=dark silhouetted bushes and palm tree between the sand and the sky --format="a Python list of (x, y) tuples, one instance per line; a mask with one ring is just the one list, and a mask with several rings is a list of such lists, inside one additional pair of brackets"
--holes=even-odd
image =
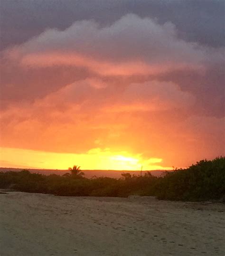
[(123, 173), (121, 179), (84, 178), (80, 167), (49, 176), (27, 170), (0, 172), (0, 188), (58, 196), (156, 196), (166, 200), (200, 201), (225, 197), (225, 157), (202, 160), (187, 169), (168, 171), (162, 177)]

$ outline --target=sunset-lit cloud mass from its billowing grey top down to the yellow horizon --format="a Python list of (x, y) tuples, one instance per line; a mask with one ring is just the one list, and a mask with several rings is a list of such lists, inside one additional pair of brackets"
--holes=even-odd
[(221, 55), (136, 15), (5, 49), (0, 166), (169, 170), (223, 155), (221, 94), (207, 84)]

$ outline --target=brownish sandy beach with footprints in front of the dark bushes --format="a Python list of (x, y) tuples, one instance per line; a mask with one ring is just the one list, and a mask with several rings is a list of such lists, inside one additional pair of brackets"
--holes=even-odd
[(225, 205), (0, 194), (0, 256), (225, 256)]

